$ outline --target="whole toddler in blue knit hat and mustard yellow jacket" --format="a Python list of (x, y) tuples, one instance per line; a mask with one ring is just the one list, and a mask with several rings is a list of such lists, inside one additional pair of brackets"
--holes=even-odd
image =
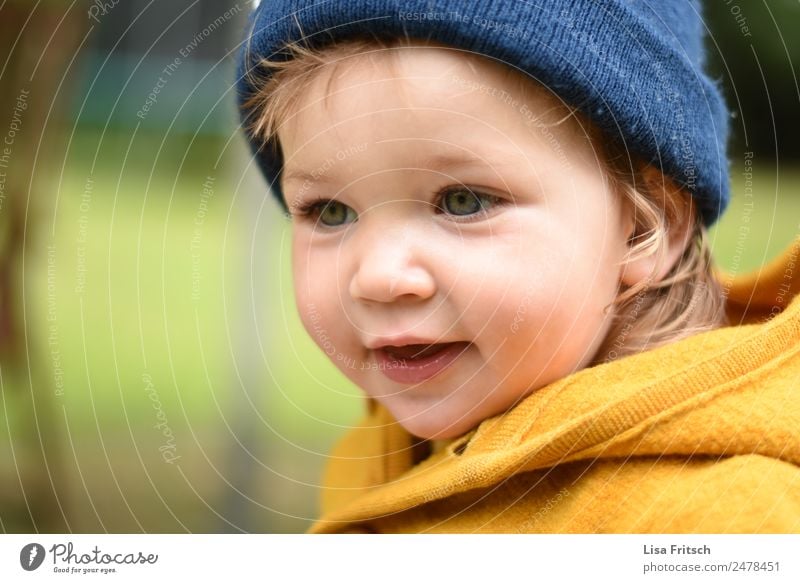
[(797, 278), (748, 324), (797, 249), (712, 270), (702, 27), (686, 0), (255, 11), (244, 127), (303, 324), (368, 397), (312, 532), (800, 531)]

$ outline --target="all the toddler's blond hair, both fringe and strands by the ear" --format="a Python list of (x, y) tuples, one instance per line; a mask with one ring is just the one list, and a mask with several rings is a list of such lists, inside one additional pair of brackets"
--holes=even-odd
[[(298, 43), (286, 45), (278, 58), (259, 61), (257, 69), (261, 73), (248, 73), (256, 91), (244, 104), (249, 120), (246, 131), (252, 140), (260, 141), (275, 153), (280, 152), (278, 128), (323, 68), (330, 67), (327, 98), (335, 69), (344, 60), (410, 42), (409, 38), (366, 38), (322, 49)], [(587, 131), (623, 204), (633, 209), (635, 230), (625, 261), (663, 254), (671, 226), (694, 205), (691, 195), (652, 166), (632, 157), (624, 146), (603, 139), (595, 126), (577, 111), (573, 110), (570, 115), (577, 117)], [(607, 306), (607, 312), (613, 310), (612, 323), (592, 365), (727, 324), (724, 295), (712, 274), (706, 227), (699, 213), (694, 216), (689, 243), (669, 273), (660, 281), (645, 279), (621, 290)]]

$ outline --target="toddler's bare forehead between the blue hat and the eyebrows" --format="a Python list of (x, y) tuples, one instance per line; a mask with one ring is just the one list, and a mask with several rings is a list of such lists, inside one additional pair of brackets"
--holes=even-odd
[(363, 117), (394, 117), (409, 132), (461, 131), (512, 118), (556, 122), (567, 108), (502, 63), (444, 46), (376, 49), (334, 62), (309, 81), (279, 137), (318, 134)]

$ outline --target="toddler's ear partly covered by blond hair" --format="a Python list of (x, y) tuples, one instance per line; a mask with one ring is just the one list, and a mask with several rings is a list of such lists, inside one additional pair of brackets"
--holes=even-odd
[[(628, 261), (622, 270), (621, 281), (626, 286), (632, 287), (645, 279), (650, 279), (650, 284), (663, 280), (675, 264), (683, 256), (689, 244), (696, 220), (696, 210), (691, 195), (681, 190), (672, 180), (664, 176), (656, 168), (647, 166), (641, 173), (643, 184), (637, 184), (637, 190), (647, 191), (649, 198), (659, 201), (662, 209), (666, 207), (664, 227), (666, 235), (661, 237), (660, 252), (633, 258)], [(664, 213), (664, 211), (661, 211)], [(626, 201), (624, 210), (624, 225), (628, 235), (628, 246), (640, 243), (643, 236), (637, 232), (633, 204)]]

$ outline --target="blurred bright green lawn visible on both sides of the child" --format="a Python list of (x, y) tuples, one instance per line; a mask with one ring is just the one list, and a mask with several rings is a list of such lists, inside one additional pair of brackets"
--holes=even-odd
[[(158, 142), (140, 140), (126, 159), (128, 145), (109, 136), (98, 152), (98, 136), (78, 136), (63, 179), (60, 168), (52, 172), (57, 205), (34, 209), (25, 282), (32, 360), (30, 373), (3, 375), (2, 483), (13, 492), (18, 473), (41, 478), (38, 432), (46, 434), (71, 530), (235, 530), (222, 517), (248, 530), (303, 530), (316, 512), (324, 456), (357, 418), (361, 397), (299, 323), (286, 225), (268, 201), (253, 246), (249, 225), (259, 209), (244, 191), (260, 183), (236, 192), (239, 175), (213, 169), (218, 143), (170, 142), (157, 156)], [(193, 249), (209, 175), (214, 196)], [(737, 243), (747, 202), (740, 178), (711, 240), (723, 268), (747, 271), (797, 236), (800, 173), (784, 172), (778, 182), (756, 170), (750, 230)], [(254, 308), (264, 313), (258, 337), (249, 338)], [(31, 391), (45, 424), (38, 429), (26, 405)], [(167, 443), (155, 427), (160, 419), (181, 456), (174, 464), (159, 451)], [(15, 504), (21, 500), (20, 491)], [(5, 530), (30, 528), (24, 512), (0, 508), (0, 519)]]

